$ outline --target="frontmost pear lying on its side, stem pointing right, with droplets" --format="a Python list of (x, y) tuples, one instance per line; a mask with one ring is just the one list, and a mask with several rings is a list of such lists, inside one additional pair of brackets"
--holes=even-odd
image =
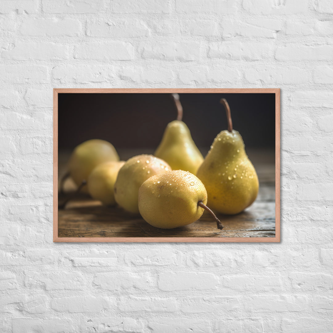
[(147, 179), (139, 189), (139, 210), (149, 224), (171, 229), (198, 220), (204, 209), (215, 218), (218, 228), (223, 225), (206, 206), (207, 192), (194, 174), (173, 170)]

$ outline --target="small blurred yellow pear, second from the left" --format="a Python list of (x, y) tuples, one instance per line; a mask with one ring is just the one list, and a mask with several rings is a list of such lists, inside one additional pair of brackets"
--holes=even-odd
[(104, 205), (114, 205), (114, 186), (118, 171), (124, 164), (125, 161), (105, 162), (96, 166), (88, 177), (89, 194)]

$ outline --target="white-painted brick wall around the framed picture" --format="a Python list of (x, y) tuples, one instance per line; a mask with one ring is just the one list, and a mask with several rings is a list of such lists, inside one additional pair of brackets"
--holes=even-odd
[[(0, 331), (331, 333), (332, 14), (0, 1)], [(281, 243), (53, 243), (54, 87), (281, 88)]]

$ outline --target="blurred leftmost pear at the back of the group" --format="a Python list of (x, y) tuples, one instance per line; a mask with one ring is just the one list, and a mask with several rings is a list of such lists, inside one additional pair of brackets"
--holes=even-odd
[[(74, 182), (80, 186), (82, 181), (87, 181), (93, 169), (101, 163), (119, 161), (119, 155), (111, 145), (105, 140), (93, 139), (78, 145), (69, 161), (69, 173)], [(87, 192), (87, 186), (84, 191)]]

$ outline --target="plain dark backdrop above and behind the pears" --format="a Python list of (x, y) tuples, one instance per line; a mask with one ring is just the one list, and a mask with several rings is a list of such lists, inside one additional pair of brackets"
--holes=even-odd
[[(204, 152), (227, 129), (229, 103), (233, 128), (246, 148), (274, 149), (275, 94), (180, 94), (183, 121)], [(89, 139), (103, 139), (116, 149), (155, 150), (177, 112), (170, 94), (59, 94), (59, 149), (72, 150)]]

